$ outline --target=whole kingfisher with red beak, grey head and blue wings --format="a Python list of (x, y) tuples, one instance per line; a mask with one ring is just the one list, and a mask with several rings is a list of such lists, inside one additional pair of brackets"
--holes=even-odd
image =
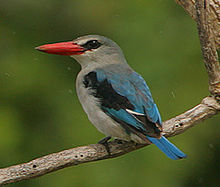
[(106, 135), (99, 143), (106, 146), (111, 138), (152, 143), (173, 160), (186, 157), (163, 136), (161, 116), (150, 89), (128, 65), (117, 43), (104, 36), (86, 35), (36, 49), (70, 56), (81, 65), (76, 92), (91, 123)]

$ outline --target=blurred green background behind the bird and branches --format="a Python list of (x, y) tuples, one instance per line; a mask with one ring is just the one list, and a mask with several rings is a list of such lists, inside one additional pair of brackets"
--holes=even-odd
[[(103, 137), (76, 96), (80, 66), (36, 46), (85, 34), (113, 39), (147, 80), (164, 120), (209, 94), (196, 24), (174, 1), (0, 0), (0, 18), (1, 168)], [(11, 186), (219, 186), (219, 119), (170, 138), (185, 160), (148, 146)]]

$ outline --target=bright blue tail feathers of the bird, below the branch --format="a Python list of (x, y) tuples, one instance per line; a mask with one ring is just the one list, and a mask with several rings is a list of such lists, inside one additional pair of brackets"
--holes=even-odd
[(186, 154), (180, 151), (175, 145), (169, 142), (164, 136), (160, 139), (152, 138), (147, 136), (147, 138), (155, 144), (161, 151), (163, 151), (169, 158), (173, 160), (178, 160), (185, 158)]

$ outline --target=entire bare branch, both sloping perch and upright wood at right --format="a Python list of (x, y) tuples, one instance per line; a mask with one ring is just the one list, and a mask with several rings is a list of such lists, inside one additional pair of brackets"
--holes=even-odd
[[(196, 20), (203, 53), (205, 67), (209, 76), (209, 90), (212, 96), (206, 97), (201, 104), (163, 123), (164, 135), (175, 136), (193, 127), (202, 120), (216, 115), (220, 111), (220, 70), (216, 48), (220, 46), (220, 26), (213, 23), (212, 12), (219, 10), (219, 2), (215, 0), (176, 0)], [(213, 8), (213, 3), (215, 8)], [(217, 8), (216, 8), (217, 6)], [(195, 8), (196, 7), (196, 8)], [(219, 11), (214, 11), (219, 22)], [(215, 21), (216, 19), (214, 19)], [(217, 33), (217, 34), (216, 34)], [(53, 153), (8, 168), (0, 169), (0, 185), (39, 177), (47, 173), (97, 160), (115, 158), (146, 145), (114, 140), (109, 143), (110, 153), (103, 145), (92, 144)]]

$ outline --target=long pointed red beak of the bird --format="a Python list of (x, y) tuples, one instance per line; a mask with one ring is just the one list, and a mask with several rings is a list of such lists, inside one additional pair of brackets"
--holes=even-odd
[(82, 46), (74, 42), (59, 42), (54, 44), (46, 44), (36, 47), (35, 49), (56, 55), (80, 55), (86, 51)]

